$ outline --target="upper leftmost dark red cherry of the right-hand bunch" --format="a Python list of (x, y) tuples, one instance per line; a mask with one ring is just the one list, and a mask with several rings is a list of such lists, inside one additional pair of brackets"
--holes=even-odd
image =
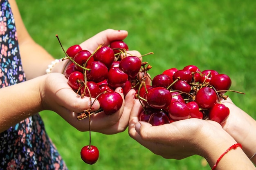
[(168, 75), (159, 74), (152, 79), (152, 86), (168, 88), (172, 84), (172, 82), (173, 82), (173, 79)]

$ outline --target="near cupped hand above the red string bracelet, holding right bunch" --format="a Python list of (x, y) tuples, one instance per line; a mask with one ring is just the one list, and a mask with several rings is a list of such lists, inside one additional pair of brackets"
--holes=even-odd
[(211, 149), (222, 145), (222, 141), (232, 139), (215, 121), (193, 118), (152, 126), (139, 121), (141, 110), (141, 104), (136, 100), (129, 121), (130, 137), (167, 159), (183, 159), (191, 155), (207, 157), (211, 155)]

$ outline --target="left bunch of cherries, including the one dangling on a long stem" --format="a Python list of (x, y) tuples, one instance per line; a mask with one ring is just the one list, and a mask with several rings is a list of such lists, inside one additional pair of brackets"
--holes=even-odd
[[(61, 44), (59, 38), (58, 41)], [(63, 49), (62, 44), (61, 47)], [(66, 55), (63, 60), (71, 61), (64, 71), (67, 83), (81, 97), (90, 97), (91, 107), (95, 99), (100, 104), (99, 110), (92, 112), (88, 108), (77, 117), (78, 120), (89, 117), (89, 132), (90, 115), (101, 112), (112, 115), (117, 112), (123, 99), (115, 89), (122, 87), (125, 96), (141, 82), (139, 72), (147, 69), (146, 62), (142, 63), (139, 57), (127, 53), (128, 46), (122, 40), (113, 41), (109, 46), (101, 44), (93, 53), (82, 49), (80, 45), (70, 46), (63, 51)], [(91, 145), (91, 135), (90, 145), (81, 150), (81, 158), (88, 164), (94, 164), (99, 158), (99, 150)]]

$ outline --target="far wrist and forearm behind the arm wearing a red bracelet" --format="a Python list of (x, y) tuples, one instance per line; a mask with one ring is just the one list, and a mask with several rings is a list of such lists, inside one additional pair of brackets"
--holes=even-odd
[(256, 121), (238, 108), (230, 98), (222, 99), (221, 103), (230, 111), (227, 121), (222, 124), (223, 129), (243, 145), (243, 150), (249, 158), (252, 157), (256, 152)]

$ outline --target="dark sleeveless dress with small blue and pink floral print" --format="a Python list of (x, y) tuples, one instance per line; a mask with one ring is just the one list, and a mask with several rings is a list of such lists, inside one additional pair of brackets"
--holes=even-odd
[[(0, 88), (25, 80), (10, 4), (0, 0)], [(17, 169), (67, 170), (39, 114), (0, 133), (0, 170)]]

